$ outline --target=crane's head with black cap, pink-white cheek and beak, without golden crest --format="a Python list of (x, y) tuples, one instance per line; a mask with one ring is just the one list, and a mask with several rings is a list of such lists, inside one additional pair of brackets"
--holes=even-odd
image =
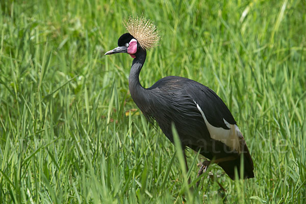
[(130, 34), (124, 33), (118, 39), (118, 47), (115, 49), (109, 50), (105, 55), (112, 55), (116, 53), (128, 53), (132, 58), (136, 58), (136, 53), (140, 47), (137, 40)]

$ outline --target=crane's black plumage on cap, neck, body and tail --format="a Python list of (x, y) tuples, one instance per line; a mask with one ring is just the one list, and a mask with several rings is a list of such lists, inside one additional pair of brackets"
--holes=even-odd
[[(122, 38), (127, 39), (127, 42), (133, 38), (124, 35)], [(119, 46), (124, 44), (122, 38), (119, 39), (120, 42), (118, 41)], [(156, 120), (171, 142), (173, 142), (171, 125), (174, 123), (184, 148), (190, 147), (200, 151), (201, 155), (210, 160), (232, 158), (230, 161), (218, 163), (232, 179), (235, 177), (235, 167), (240, 175), (242, 154), (244, 177), (254, 177), (253, 163), (246, 144), (243, 143), (242, 151), (237, 152), (223, 142), (213, 139), (199, 111), (200, 108), (214, 127), (230, 129), (224, 120), (232, 125), (235, 125), (236, 121), (219, 96), (198, 82), (174, 76), (165, 77), (150, 88), (143, 88), (139, 82), (139, 73), (145, 62), (146, 50), (138, 45), (135, 56), (130, 72), (129, 88), (133, 100), (145, 117), (151, 121)]]

